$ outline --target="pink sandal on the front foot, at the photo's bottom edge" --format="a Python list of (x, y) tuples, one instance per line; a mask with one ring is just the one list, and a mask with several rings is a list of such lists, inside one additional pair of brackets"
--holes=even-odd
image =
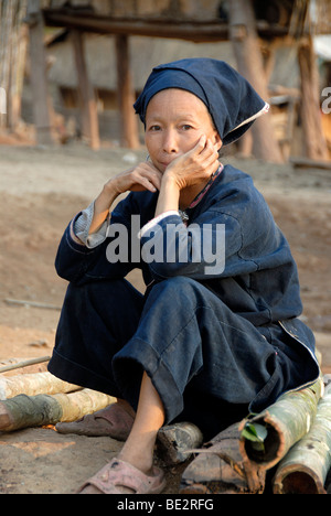
[(78, 494), (88, 486), (96, 487), (100, 494), (124, 494), (121, 487), (132, 491), (132, 494), (159, 494), (166, 487), (164, 473), (153, 466), (153, 475), (149, 476), (128, 462), (113, 459), (96, 475), (88, 479)]

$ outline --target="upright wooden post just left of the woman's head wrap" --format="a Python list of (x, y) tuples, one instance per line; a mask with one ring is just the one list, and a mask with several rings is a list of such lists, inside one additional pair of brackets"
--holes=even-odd
[(128, 36), (116, 36), (117, 97), (120, 112), (120, 143), (129, 149), (139, 147), (138, 122), (134, 111), (135, 94), (131, 86)]

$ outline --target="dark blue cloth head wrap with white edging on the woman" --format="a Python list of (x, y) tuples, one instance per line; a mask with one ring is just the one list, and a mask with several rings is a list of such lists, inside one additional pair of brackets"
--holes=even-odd
[(143, 123), (150, 99), (168, 88), (185, 89), (205, 104), (224, 146), (237, 140), (269, 109), (250, 84), (227, 63), (189, 58), (152, 69), (134, 105)]

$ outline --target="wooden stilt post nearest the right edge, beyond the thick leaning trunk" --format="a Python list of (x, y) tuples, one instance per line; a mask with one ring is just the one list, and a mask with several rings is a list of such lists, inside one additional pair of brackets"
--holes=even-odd
[(327, 139), (322, 129), (319, 77), (311, 36), (301, 40), (298, 49), (301, 77), (301, 119), (306, 155), (328, 160)]

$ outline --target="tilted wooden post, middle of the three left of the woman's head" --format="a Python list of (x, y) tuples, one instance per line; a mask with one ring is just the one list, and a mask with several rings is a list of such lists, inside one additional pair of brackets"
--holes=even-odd
[(82, 131), (83, 135), (87, 138), (90, 148), (98, 150), (100, 148), (100, 140), (97, 105), (94, 89), (88, 78), (83, 33), (81, 31), (73, 30), (72, 39), (77, 69), (79, 100), (82, 104)]

